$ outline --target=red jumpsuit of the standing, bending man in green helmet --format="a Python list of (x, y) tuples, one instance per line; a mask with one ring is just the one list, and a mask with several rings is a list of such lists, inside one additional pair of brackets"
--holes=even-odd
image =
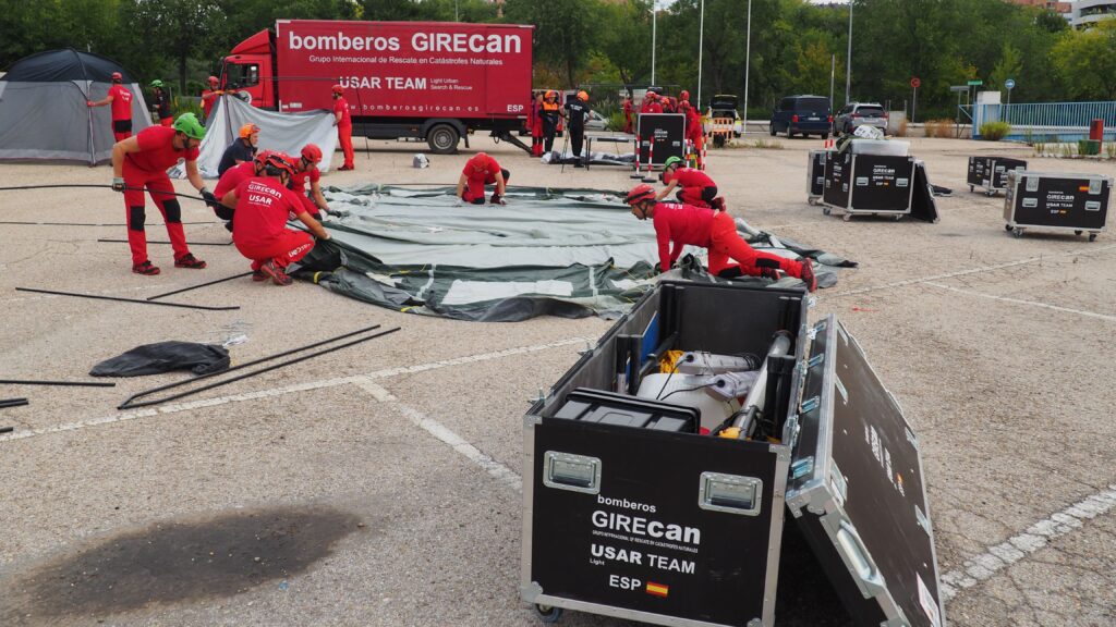
[[(116, 102), (115, 99), (113, 100)], [(187, 162), (198, 160), (198, 148), (175, 151), (171, 144), (174, 128), (151, 126), (136, 135), (140, 143), (138, 153), (124, 156), (124, 206), (128, 210), (128, 247), (132, 249), (132, 263), (138, 266), (147, 261), (147, 234), (144, 231), (146, 219), (144, 211), (143, 189), (146, 187), (155, 206), (166, 222), (166, 234), (171, 238), (174, 258), (190, 254), (186, 247), (186, 234), (182, 229), (182, 208), (173, 195), (174, 186), (166, 175), (166, 168), (179, 163), (180, 158)]]

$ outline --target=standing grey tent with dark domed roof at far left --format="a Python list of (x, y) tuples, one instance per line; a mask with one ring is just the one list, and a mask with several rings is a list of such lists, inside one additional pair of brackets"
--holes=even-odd
[(112, 161), (112, 106), (88, 107), (124, 76), (132, 100), (132, 132), (151, 126), (140, 85), (112, 59), (73, 48), (16, 61), (0, 78), (0, 160)]

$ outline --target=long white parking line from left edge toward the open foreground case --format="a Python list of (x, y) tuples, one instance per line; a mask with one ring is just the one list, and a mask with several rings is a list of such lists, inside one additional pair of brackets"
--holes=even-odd
[[(85, 421), (78, 421), (74, 423), (66, 423), (60, 425), (45, 426), (36, 430), (17, 431), (7, 435), (0, 435), (0, 443), (12, 441), (12, 440), (25, 440), (28, 437), (35, 437), (38, 435), (48, 435), (51, 433), (62, 433), (67, 431), (77, 431), (80, 428), (86, 428), (90, 426), (108, 425), (114, 423), (122, 423), (127, 421), (134, 421), (138, 418), (148, 418), (152, 416), (158, 416), (163, 414), (177, 414), (180, 412), (189, 412), (191, 409), (200, 409), (203, 407), (215, 407), (218, 405), (227, 405), (229, 403), (240, 403), (242, 401), (254, 401), (258, 398), (268, 398), (271, 396), (283, 396), (286, 394), (292, 394), (296, 392), (306, 392), (310, 389), (324, 389), (327, 387), (337, 387), (339, 385), (357, 384), (362, 385), (373, 379), (394, 377), (398, 375), (407, 375), (413, 373), (423, 373), (426, 370), (434, 370), (437, 368), (445, 368), (449, 366), (460, 366), (463, 364), (473, 364), (477, 361), (488, 361), (491, 359), (500, 359), (503, 357), (510, 357), (513, 355), (526, 355), (528, 353), (538, 353), (540, 350), (549, 350), (551, 348), (558, 348), (562, 346), (570, 345), (584, 345), (586, 338), (575, 337), (560, 339), (557, 341), (551, 341), (547, 344), (537, 344), (533, 346), (520, 346), (516, 348), (507, 348), (504, 350), (496, 350), (492, 353), (480, 353), (477, 355), (466, 355), (464, 357), (454, 357), (452, 359), (442, 359), (440, 361), (430, 361), (426, 364), (415, 364), (413, 366), (400, 366), (397, 368), (387, 368), (383, 370), (375, 370), (365, 375), (355, 375), (352, 377), (338, 377), (333, 379), (323, 379), (317, 382), (299, 383), (294, 385), (288, 385), (283, 387), (273, 387), (269, 389), (261, 389), (258, 392), (248, 392), (244, 394), (233, 394), (229, 396), (218, 396), (215, 398), (204, 398), (201, 401), (192, 401), (189, 403), (172, 403), (167, 405), (160, 405), (157, 407), (150, 407), (144, 409), (137, 409), (133, 412), (122, 412), (117, 414), (110, 414), (108, 416), (102, 416), (97, 418), (89, 418)], [(366, 388), (367, 389), (367, 388)]]

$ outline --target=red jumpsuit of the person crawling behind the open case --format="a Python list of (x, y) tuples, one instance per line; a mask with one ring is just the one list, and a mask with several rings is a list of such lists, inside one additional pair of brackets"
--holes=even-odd
[[(709, 250), (709, 272), (720, 274), (739, 269), (744, 274), (759, 276), (762, 269), (783, 270), (801, 278), (802, 264), (777, 254), (759, 252), (737, 233), (737, 223), (723, 211), (689, 204), (655, 205), (655, 238), (658, 242), (658, 267), (668, 270), (685, 245)], [(672, 247), (673, 244), (673, 247)], [(729, 260), (737, 263), (730, 263)]]

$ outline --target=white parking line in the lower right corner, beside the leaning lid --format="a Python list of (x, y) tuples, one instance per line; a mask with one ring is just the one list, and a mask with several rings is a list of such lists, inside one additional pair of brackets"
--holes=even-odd
[(1027, 531), (1009, 538), (972, 559), (965, 560), (960, 570), (942, 576), (942, 599), (949, 601), (961, 590), (989, 579), (997, 572), (1020, 561), (1024, 557), (1046, 547), (1051, 540), (1079, 529), (1084, 521), (1096, 518), (1116, 508), (1116, 483), (1096, 494), (1079, 501), (1060, 512), (1051, 514), (1027, 528)]

